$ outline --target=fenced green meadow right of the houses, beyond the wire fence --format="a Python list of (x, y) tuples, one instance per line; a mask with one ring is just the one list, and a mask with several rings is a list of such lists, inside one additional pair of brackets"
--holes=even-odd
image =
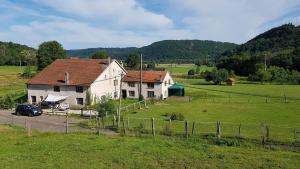
[[(191, 68), (178, 67), (181, 70), (177, 75), (186, 74)], [(241, 125), (240, 136), (260, 139), (263, 124), (268, 126), (271, 140), (293, 142), (295, 131), (300, 131), (299, 85), (260, 84), (242, 79), (235, 86), (227, 86), (213, 85), (203, 79), (175, 77), (174, 80), (185, 86), (185, 94), (191, 99), (168, 98), (147, 109), (124, 112), (131, 128), (143, 124), (150, 129), (150, 118), (154, 117), (156, 130), (164, 132), (167, 119), (180, 113), (189, 122), (189, 130), (192, 122), (196, 123), (195, 132), (199, 134), (214, 134), (217, 121), (221, 122), (225, 136), (238, 136)], [(183, 133), (184, 122), (174, 121), (172, 129)]]

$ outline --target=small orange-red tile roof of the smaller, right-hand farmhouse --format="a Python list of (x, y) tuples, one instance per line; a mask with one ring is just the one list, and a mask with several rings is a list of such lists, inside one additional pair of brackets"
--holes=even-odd
[[(143, 82), (162, 82), (165, 78), (166, 71), (143, 71), (142, 80)], [(140, 71), (128, 71), (127, 75), (123, 79), (124, 82), (139, 82), (140, 81)]]

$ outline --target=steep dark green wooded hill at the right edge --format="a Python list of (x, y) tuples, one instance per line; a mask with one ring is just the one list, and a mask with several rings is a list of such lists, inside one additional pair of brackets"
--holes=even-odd
[(254, 73), (259, 64), (300, 70), (300, 26), (285, 24), (266, 31), (233, 50), (224, 52), (218, 67), (238, 75)]

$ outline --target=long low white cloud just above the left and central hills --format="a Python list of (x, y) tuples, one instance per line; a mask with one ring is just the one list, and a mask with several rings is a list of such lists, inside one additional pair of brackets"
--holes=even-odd
[[(162, 39), (192, 38), (185, 30), (164, 29), (137, 33), (128, 30), (99, 28), (85, 22), (59, 17), (48, 17), (46, 22), (33, 21), (24, 25), (13, 25), (0, 32), (0, 40), (25, 43), (33, 47), (43, 41), (57, 40), (65, 48), (128, 47), (143, 46)], [(20, 38), (21, 37), (21, 38)]]

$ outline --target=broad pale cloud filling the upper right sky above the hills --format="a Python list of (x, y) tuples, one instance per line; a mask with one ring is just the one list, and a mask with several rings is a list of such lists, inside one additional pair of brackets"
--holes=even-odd
[(268, 22), (287, 14), (300, 1), (173, 0), (170, 4), (182, 15), (186, 29), (197, 34), (197, 38), (241, 43), (278, 26)]

